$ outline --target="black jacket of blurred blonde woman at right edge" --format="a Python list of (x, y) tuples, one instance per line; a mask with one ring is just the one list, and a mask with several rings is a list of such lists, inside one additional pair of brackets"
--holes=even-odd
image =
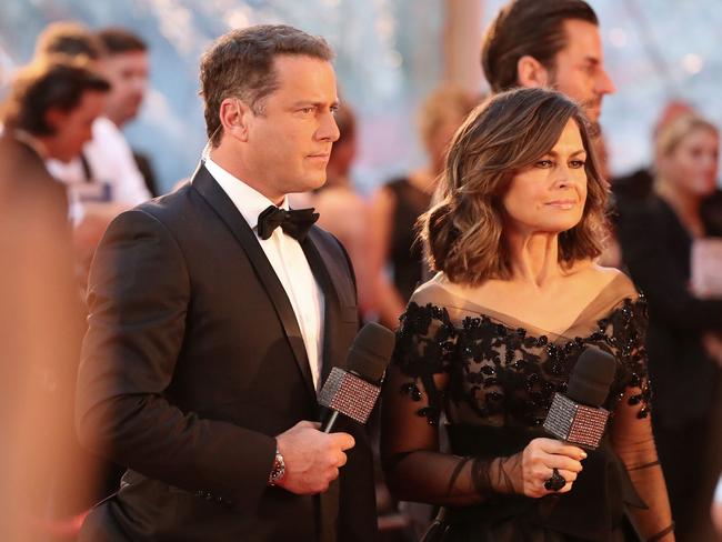
[(720, 379), (702, 334), (722, 331), (722, 300), (690, 293), (692, 239), (662, 199), (620, 209), (618, 235), (632, 279), (649, 299), (654, 423), (674, 429), (700, 421), (709, 415)]

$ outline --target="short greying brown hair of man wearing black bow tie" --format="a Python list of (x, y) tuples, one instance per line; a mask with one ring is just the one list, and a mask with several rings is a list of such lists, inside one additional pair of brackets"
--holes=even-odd
[(219, 38), (201, 59), (201, 91), (205, 104), (205, 131), (213, 147), (221, 141), (219, 111), (227, 98), (237, 97), (255, 114), (263, 98), (278, 89), (273, 60), (279, 54), (333, 59), (323, 38), (285, 24), (261, 24), (232, 30)]

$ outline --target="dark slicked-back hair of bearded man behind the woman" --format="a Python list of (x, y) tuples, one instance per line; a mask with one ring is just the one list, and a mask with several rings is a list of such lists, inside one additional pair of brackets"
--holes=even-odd
[(554, 72), (556, 53), (566, 44), (564, 21), (599, 26), (583, 0), (511, 0), (497, 14), (481, 49), (481, 67), (494, 92), (519, 86), (517, 66), (529, 54)]

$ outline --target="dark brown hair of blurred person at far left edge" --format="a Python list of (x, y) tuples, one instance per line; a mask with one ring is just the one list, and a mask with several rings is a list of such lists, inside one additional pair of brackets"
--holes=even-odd
[(43, 57), (20, 70), (0, 113), (10, 129), (32, 136), (52, 136), (48, 110), (71, 111), (87, 91), (108, 92), (110, 83), (90, 68), (87, 59)]

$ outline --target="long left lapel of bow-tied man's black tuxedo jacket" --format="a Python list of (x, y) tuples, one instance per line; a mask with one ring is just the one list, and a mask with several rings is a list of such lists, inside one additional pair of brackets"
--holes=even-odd
[(311, 367), (309, 364), (305, 345), (303, 343), (303, 335), (299, 328), (295, 313), (291, 307), (291, 302), (283, 289), (283, 284), (273, 271), (271, 263), (268, 261), (263, 249), (258, 242), (255, 233), (249, 227), (248, 222), (243, 219), (228, 194), (215, 182), (213, 177), (208, 172), (205, 167), (201, 163), (195, 170), (192, 180), (193, 188), (203, 197), (203, 199), (215, 211), (220, 219), (229, 227), (239, 244), (245, 251), (251, 265), (253, 267), (257, 277), (265, 288), (265, 291), (273, 303), (275, 313), (280, 319), (285, 337), (289, 341), (299, 371), (305, 383), (305, 388), (312, 398), (313, 402), (317, 401), (315, 387), (313, 385), (313, 377), (311, 375)]

